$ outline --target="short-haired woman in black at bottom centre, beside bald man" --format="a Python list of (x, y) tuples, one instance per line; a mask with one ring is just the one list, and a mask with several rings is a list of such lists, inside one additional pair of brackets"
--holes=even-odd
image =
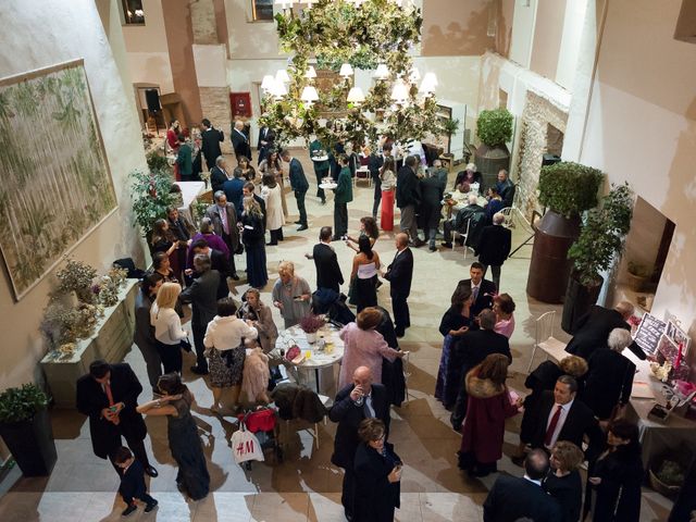
[(400, 506), (401, 459), (394, 452), (394, 445), (385, 442), (386, 430), (380, 419), (363, 420), (358, 436), (362, 444), (353, 463), (352, 521), (393, 522), (394, 510)]

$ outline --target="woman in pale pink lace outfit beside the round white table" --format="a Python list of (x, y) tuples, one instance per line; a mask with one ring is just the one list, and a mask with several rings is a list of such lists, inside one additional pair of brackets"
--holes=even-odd
[(358, 314), (355, 323), (348, 323), (338, 333), (345, 345), (338, 389), (352, 382), (358, 366), (368, 366), (372, 371), (372, 382), (382, 384), (382, 358), (394, 362), (397, 357), (403, 357), (402, 351), (389, 348), (382, 334), (375, 331), (381, 322), (382, 312), (369, 307)]

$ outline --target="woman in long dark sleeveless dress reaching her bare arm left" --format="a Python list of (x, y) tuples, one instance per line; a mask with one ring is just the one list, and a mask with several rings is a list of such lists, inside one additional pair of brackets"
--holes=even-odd
[(210, 475), (198, 427), (190, 412), (194, 396), (177, 373), (162, 375), (158, 388), (162, 397), (138, 406), (137, 411), (147, 415), (166, 417), (170, 450), (178, 464), (176, 485), (192, 500), (200, 500), (210, 490)]

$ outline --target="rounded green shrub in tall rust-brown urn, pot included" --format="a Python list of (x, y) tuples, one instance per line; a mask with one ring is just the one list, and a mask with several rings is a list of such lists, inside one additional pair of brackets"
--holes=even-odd
[(601, 171), (573, 162), (542, 167), (538, 200), (547, 211), (536, 225), (526, 291), (543, 302), (561, 302), (571, 263), (568, 249), (580, 234), (580, 215), (597, 204)]

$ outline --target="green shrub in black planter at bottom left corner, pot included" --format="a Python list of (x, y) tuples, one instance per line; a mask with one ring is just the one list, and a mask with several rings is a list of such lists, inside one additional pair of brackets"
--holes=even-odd
[(50, 474), (58, 458), (47, 407), (35, 384), (0, 394), (0, 436), (25, 476)]

